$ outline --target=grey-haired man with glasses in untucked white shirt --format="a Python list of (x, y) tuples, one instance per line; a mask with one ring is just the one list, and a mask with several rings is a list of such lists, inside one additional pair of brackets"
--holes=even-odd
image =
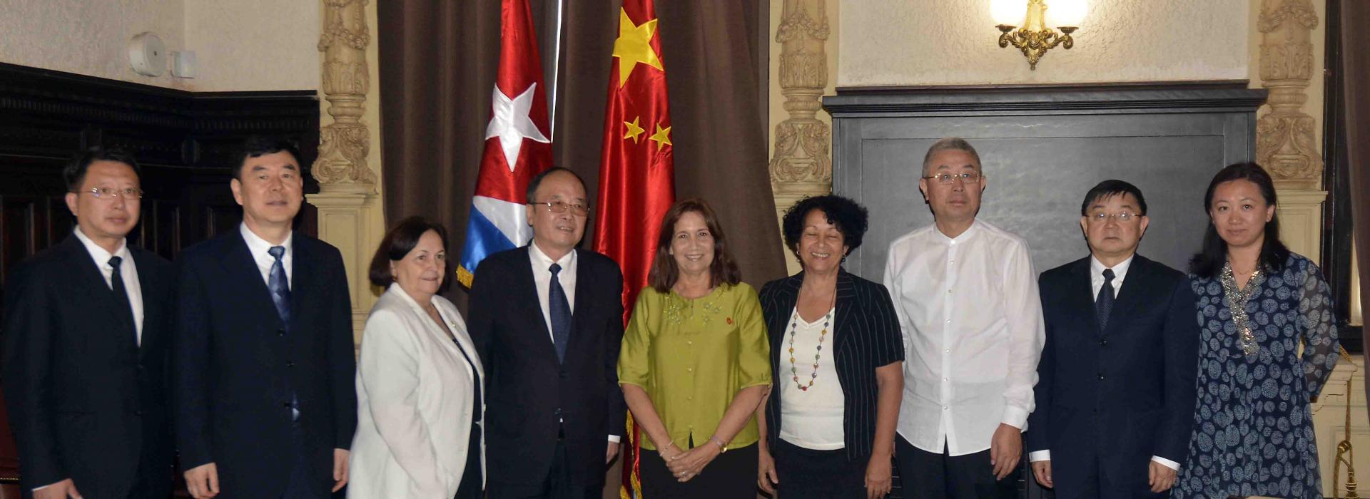
[(1015, 498), (1043, 321), (1028, 243), (975, 220), (980, 154), (944, 138), (918, 189), (933, 226), (889, 245), (904, 336), (896, 455), (910, 498)]

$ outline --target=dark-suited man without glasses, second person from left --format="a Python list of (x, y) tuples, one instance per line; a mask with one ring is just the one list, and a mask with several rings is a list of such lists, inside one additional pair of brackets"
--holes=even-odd
[(303, 171), (251, 138), (230, 182), (242, 224), (178, 258), (175, 433), (195, 498), (327, 498), (356, 429), (352, 306), (338, 250), (296, 234)]

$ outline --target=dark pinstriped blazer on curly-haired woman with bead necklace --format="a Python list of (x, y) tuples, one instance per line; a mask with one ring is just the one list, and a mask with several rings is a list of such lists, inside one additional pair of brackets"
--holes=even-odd
[[(781, 365), (788, 351), (789, 317), (799, 302), (804, 273), (777, 279), (762, 287), (762, 316), (771, 347), (771, 390), (766, 405), (766, 444), (775, 448), (780, 439), (781, 384), (795, 383), (789, 368)], [(843, 433), (848, 459), (870, 457), (875, 440), (875, 403), (878, 386), (875, 368), (904, 360), (904, 339), (899, 329), (895, 302), (885, 286), (845, 269), (837, 275), (837, 312), (833, 314), (833, 355), (837, 383), (843, 387)], [(822, 383), (822, 380), (819, 380)]]

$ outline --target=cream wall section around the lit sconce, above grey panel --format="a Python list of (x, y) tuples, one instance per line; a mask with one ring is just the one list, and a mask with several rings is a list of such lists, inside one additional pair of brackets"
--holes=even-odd
[(1048, 51), (1036, 71), (999, 48), (989, 3), (841, 0), (837, 86), (1249, 77), (1249, 0), (1091, 0), (1075, 46)]

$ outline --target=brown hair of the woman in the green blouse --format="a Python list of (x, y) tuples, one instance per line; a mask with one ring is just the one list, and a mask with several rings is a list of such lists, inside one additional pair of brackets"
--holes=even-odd
[(685, 213), (695, 212), (704, 217), (704, 226), (714, 235), (714, 262), (708, 265), (708, 286), (737, 284), (743, 282), (743, 271), (737, 268), (737, 261), (727, 252), (727, 238), (723, 237), (723, 227), (718, 224), (718, 216), (704, 200), (692, 198), (675, 201), (671, 209), (662, 217), (662, 227), (656, 234), (656, 254), (652, 256), (652, 269), (647, 273), (647, 284), (658, 293), (669, 293), (671, 286), (681, 276), (675, 257), (671, 256), (671, 238), (675, 235), (675, 223)]

